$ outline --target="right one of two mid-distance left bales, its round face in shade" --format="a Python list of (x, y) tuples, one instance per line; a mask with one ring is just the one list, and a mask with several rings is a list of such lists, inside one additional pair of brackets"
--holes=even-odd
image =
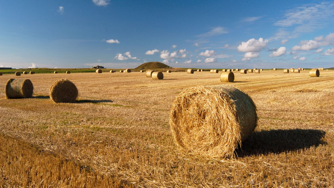
[(50, 99), (54, 103), (74, 103), (78, 97), (78, 89), (68, 79), (60, 79), (50, 87)]

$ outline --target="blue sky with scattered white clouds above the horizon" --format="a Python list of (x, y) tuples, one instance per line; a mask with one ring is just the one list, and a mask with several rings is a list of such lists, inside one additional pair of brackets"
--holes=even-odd
[(0, 1), (0, 66), (334, 67), (334, 1)]

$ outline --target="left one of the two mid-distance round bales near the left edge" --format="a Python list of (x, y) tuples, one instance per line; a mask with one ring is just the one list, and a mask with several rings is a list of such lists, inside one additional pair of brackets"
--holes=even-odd
[(22, 99), (32, 97), (34, 87), (29, 79), (10, 78), (5, 86), (7, 99)]

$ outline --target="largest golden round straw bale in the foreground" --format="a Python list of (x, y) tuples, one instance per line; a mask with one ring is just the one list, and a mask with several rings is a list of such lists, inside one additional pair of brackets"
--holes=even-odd
[(254, 131), (257, 119), (253, 100), (239, 89), (195, 86), (176, 97), (169, 124), (187, 152), (227, 158)]

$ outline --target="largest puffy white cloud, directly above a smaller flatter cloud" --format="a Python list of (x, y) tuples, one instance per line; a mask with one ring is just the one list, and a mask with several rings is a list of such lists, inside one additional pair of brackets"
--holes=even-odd
[(247, 42), (241, 42), (238, 46), (239, 52), (259, 52), (268, 44), (268, 40), (263, 40), (263, 38), (259, 38), (256, 40), (255, 38), (249, 39)]

